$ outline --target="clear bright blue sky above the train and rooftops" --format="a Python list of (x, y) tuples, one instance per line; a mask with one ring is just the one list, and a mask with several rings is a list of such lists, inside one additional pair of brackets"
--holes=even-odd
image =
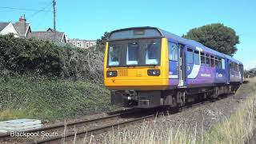
[[(181, 36), (192, 28), (220, 22), (239, 35), (234, 58), (243, 62), (247, 70), (256, 67), (255, 0), (56, 0), (56, 3), (57, 30), (65, 32), (68, 38), (97, 39), (105, 31), (132, 26), (156, 26)], [(32, 31), (47, 30), (53, 27), (52, 11), (52, 0), (2, 0), (0, 22), (17, 22), (26, 14)]]

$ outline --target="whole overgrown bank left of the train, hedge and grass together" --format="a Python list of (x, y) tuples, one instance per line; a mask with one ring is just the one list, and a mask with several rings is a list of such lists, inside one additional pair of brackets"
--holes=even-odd
[(0, 121), (55, 119), (110, 110), (103, 53), (0, 35)]

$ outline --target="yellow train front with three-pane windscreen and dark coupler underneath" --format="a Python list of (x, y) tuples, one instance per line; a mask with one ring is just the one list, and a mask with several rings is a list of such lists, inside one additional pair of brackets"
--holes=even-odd
[(152, 27), (115, 30), (106, 42), (104, 84), (119, 106), (163, 105), (168, 87), (167, 39)]

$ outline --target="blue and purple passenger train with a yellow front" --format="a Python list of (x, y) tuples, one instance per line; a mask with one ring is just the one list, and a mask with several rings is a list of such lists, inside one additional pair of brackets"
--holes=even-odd
[(117, 106), (178, 107), (238, 90), (242, 62), (157, 27), (110, 32), (104, 85)]

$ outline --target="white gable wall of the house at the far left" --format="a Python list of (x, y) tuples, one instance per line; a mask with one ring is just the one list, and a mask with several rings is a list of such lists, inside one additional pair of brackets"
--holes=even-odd
[(15, 38), (19, 38), (17, 30), (11, 22), (0, 22), (0, 35), (14, 34)]

